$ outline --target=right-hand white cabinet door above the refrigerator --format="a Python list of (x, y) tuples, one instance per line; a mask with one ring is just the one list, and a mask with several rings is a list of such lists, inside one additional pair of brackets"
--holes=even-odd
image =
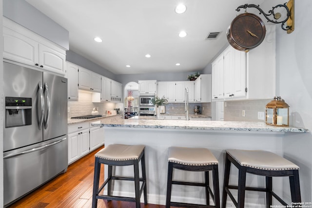
[(66, 55), (54, 48), (39, 44), (39, 66), (59, 74), (65, 74)]

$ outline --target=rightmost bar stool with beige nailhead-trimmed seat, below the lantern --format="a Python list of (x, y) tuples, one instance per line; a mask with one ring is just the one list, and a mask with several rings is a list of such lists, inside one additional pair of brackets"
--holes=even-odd
[[(233, 163), (238, 169), (238, 186), (229, 185), (230, 168)], [(272, 177), (289, 176), (292, 202), (301, 202), (299, 167), (287, 159), (270, 151), (260, 150), (227, 150), (225, 158), (224, 183), (221, 208), (225, 208), (227, 195), (230, 196), (236, 208), (244, 208), (245, 190), (266, 192), (266, 208), (272, 206), (272, 197), (283, 206), (283, 201), (272, 190)], [(246, 187), (246, 173), (262, 175), (266, 177), (266, 188)], [(238, 189), (237, 202), (230, 189)]]

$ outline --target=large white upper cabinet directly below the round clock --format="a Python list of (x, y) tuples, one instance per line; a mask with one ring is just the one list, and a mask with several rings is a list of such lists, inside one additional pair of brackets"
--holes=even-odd
[[(248, 53), (229, 46), (212, 63), (212, 99), (270, 99), (275, 96), (275, 25)], [(220, 86), (222, 83), (223, 86)]]

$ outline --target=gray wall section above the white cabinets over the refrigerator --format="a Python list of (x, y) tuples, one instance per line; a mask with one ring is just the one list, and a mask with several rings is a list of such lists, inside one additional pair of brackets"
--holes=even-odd
[(68, 31), (25, 0), (3, 0), (3, 16), (69, 49)]

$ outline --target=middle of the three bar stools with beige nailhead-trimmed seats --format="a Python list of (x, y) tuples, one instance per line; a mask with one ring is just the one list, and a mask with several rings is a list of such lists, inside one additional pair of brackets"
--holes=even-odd
[[(173, 180), (174, 168), (188, 171), (204, 171), (205, 183), (175, 181)], [(212, 170), (213, 172), (214, 192), (212, 192), (209, 187), (209, 170)], [(206, 205), (171, 202), (171, 188), (173, 184), (205, 187)], [(210, 206), (210, 195), (212, 196), (215, 206)], [(187, 208), (220, 208), (218, 161), (211, 151), (205, 148), (169, 148), (166, 208), (170, 208), (170, 206)]]

